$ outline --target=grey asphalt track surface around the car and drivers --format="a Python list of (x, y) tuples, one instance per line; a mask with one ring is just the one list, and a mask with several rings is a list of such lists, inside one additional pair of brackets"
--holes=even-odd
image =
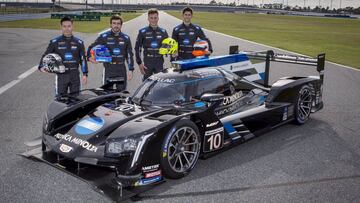
[[(179, 23), (164, 13), (169, 34)], [(140, 16), (123, 26), (134, 42), (147, 24)], [(0, 29), (0, 87), (38, 63), (59, 31)], [(215, 53), (229, 45), (267, 47), (211, 31)], [(96, 35), (77, 34), (86, 45)], [(199, 160), (191, 174), (142, 195), (141, 202), (359, 202), (360, 71), (326, 63), (325, 108), (303, 126), (288, 124), (222, 154)], [(316, 75), (314, 68), (273, 64), (271, 81)], [(101, 84), (101, 65), (90, 65), (89, 83)], [(138, 69), (129, 90), (141, 81)], [(19, 153), (41, 133), (42, 117), (54, 95), (54, 76), (38, 71), (0, 94), (0, 197), (2, 202), (109, 202), (86, 183)]]

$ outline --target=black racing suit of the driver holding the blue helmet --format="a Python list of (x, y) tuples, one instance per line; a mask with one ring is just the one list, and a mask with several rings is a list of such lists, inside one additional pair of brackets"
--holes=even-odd
[(90, 57), (91, 49), (96, 45), (106, 46), (111, 53), (112, 62), (104, 63), (103, 84), (108, 84), (109, 80), (123, 80), (123, 83), (116, 84), (116, 90), (122, 91), (126, 89), (127, 74), (125, 61), (127, 61), (129, 71), (134, 70), (134, 58), (130, 37), (122, 32), (114, 33), (107, 31), (101, 34), (94, 43), (92, 43), (87, 55)]

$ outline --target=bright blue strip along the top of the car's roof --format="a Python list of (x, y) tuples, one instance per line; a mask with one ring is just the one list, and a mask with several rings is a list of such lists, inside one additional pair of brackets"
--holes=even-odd
[(216, 67), (248, 60), (249, 58), (246, 54), (233, 54), (225, 56), (215, 56), (210, 58), (202, 57), (189, 60), (175, 61), (173, 63), (179, 64), (182, 70), (191, 70), (202, 67)]

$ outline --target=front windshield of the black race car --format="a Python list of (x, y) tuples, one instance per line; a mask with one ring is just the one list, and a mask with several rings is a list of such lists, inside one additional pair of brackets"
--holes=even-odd
[(146, 80), (133, 95), (137, 104), (166, 105), (189, 102), (194, 95), (195, 81), (186, 83), (167, 83)]

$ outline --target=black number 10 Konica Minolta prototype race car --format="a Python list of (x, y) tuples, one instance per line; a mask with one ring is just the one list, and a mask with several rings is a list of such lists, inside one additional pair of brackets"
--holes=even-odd
[[(181, 178), (199, 158), (290, 121), (304, 124), (323, 108), (325, 54), (231, 50), (175, 61), (131, 97), (94, 89), (59, 98), (46, 113), (41, 149), (24, 155), (80, 177), (117, 201), (126, 196), (122, 188), (131, 196), (164, 177)], [(270, 61), (316, 66), (320, 77), (286, 77), (270, 86)]]

